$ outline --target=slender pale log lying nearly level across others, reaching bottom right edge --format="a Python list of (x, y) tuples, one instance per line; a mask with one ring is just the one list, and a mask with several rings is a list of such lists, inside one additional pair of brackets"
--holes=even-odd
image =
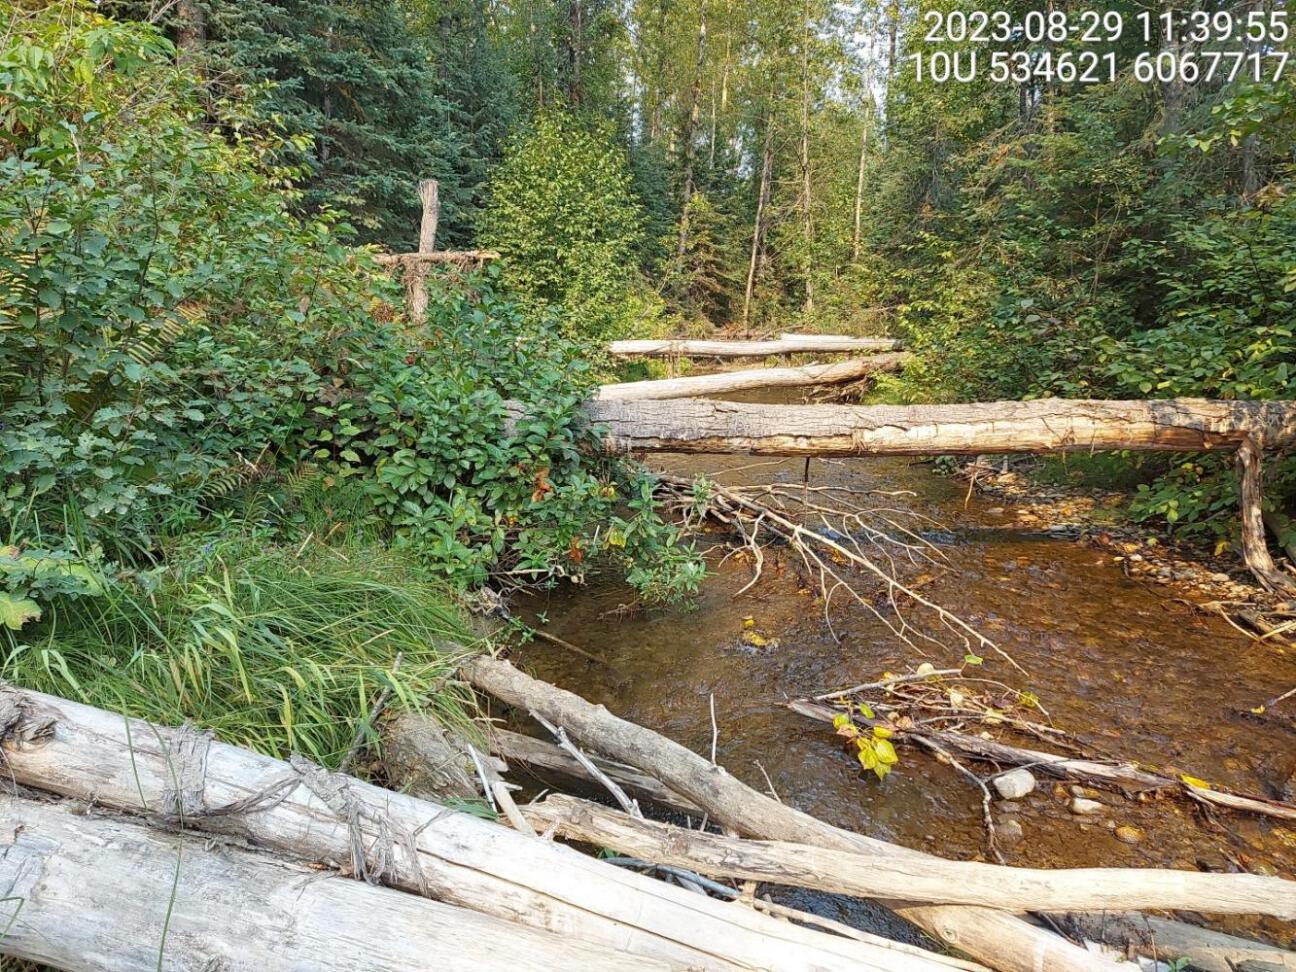
[(1157, 908), (1296, 919), (1296, 881), (1164, 868), (1037, 870), (940, 858), (885, 861), (809, 844), (753, 841), (636, 820), (587, 800), (553, 794), (522, 810), (537, 829), (713, 877), (767, 881), (859, 898), (993, 905), (1015, 911)]

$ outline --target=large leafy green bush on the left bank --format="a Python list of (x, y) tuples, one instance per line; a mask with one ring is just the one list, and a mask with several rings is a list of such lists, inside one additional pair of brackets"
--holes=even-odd
[[(104, 596), (307, 464), (355, 482), (355, 515), (456, 583), (575, 575), (600, 556), (649, 595), (696, 583), (651, 480), (591, 457), (588, 378), (556, 318), (524, 315), (494, 280), (434, 283), (425, 330), (408, 332), (345, 224), (293, 215), (290, 174), (267, 161), (279, 145), (213, 119), (159, 35), (60, 14), (0, 52), (9, 627), (35, 600)], [(290, 508), (273, 507), (280, 535)]]

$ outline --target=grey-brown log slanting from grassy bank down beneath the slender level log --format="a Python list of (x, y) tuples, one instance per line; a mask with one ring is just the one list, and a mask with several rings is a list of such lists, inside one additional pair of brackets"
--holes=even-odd
[[(607, 757), (658, 779), (746, 837), (854, 850), (883, 861), (933, 861), (929, 854), (851, 833), (752, 789), (652, 730), (626, 722), (601, 705), (533, 679), (505, 661), (478, 657), (461, 667), (478, 689), (535, 712)], [(1116, 963), (1090, 954), (1050, 931), (986, 907), (886, 902), (919, 928), (976, 960), (1003, 972), (1118, 972)]]

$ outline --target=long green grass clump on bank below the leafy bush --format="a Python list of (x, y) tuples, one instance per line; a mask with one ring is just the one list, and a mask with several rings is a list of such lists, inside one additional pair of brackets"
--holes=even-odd
[(376, 741), (384, 691), (391, 709), (467, 726), (454, 673), (482, 647), (445, 587), (382, 547), (241, 540), (64, 601), (32, 635), (6, 632), (5, 679), (329, 767), (359, 728)]

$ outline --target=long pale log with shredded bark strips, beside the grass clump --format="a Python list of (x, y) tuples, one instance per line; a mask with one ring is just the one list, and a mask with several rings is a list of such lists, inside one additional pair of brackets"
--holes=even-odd
[(187, 829), (233, 835), (297, 861), (343, 862), (371, 881), (677, 967), (924, 968), (912, 956), (899, 962), (875, 945), (627, 874), (490, 820), (189, 727), (158, 727), (4, 686), (0, 740), (12, 781), (183, 820)]

